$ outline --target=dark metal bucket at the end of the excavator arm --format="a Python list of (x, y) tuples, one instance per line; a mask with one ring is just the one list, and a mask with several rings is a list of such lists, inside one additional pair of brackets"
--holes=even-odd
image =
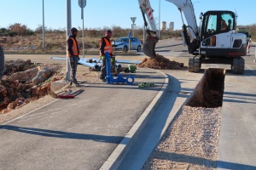
[(157, 37), (148, 37), (146, 39), (146, 42), (143, 45), (143, 53), (147, 55), (148, 57), (156, 57), (154, 47), (156, 42), (158, 42)]

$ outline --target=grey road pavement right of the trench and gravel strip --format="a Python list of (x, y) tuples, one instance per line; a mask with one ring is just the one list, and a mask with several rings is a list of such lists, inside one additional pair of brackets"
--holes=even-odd
[(243, 75), (225, 77), (218, 169), (256, 169), (255, 43)]

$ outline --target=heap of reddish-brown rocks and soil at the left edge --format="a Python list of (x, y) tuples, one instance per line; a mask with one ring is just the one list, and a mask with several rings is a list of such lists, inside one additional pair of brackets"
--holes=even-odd
[(0, 80), (0, 111), (7, 113), (48, 94), (50, 83), (63, 78), (61, 67), (34, 65), (30, 60), (7, 60)]

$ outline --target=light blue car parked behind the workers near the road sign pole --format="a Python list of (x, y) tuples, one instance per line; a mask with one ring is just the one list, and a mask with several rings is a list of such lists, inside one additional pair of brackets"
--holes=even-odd
[[(119, 37), (112, 42), (113, 50), (122, 50), (127, 52), (129, 50), (129, 37)], [(131, 50), (142, 50), (142, 42), (137, 37), (131, 37)]]

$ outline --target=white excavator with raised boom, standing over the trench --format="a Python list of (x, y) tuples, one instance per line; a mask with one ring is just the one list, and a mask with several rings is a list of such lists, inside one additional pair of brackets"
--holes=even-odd
[[(189, 71), (198, 72), (201, 64), (231, 65), (234, 74), (243, 74), (245, 61), (241, 56), (247, 55), (250, 46), (245, 33), (236, 31), (236, 13), (228, 10), (211, 10), (200, 15), (200, 26), (195, 19), (195, 10), (191, 0), (166, 0), (173, 3), (187, 21), (183, 20), (183, 37), (188, 47)], [(151, 30), (147, 30), (148, 37), (143, 46), (143, 53), (149, 57), (156, 57), (154, 47), (158, 42), (153, 12), (149, 0), (138, 0), (143, 14), (145, 26), (148, 23)], [(153, 35), (152, 35), (153, 33)]]

